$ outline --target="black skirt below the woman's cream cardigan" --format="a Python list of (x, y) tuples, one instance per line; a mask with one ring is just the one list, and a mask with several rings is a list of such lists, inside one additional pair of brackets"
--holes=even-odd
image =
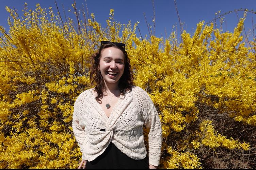
[(144, 159), (132, 159), (126, 154), (121, 152), (112, 142), (106, 150), (91, 162), (87, 161), (86, 169), (98, 169), (98, 168), (138, 168), (149, 169), (148, 155)]

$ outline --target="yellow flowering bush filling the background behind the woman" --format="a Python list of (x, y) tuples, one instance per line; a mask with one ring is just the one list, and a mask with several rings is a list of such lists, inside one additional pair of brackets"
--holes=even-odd
[[(62, 22), (39, 4), (32, 11), (25, 3), (21, 18), (6, 10), (9, 32), (0, 26), (0, 168), (78, 167), (73, 106), (92, 88), (90, 57), (101, 40), (127, 45), (134, 82), (155, 103), (163, 129), (159, 168), (216, 168), (222, 153), (236, 153), (228, 160), (255, 168), (256, 44), (243, 42), (245, 18), (234, 33), (199, 22), (194, 35), (184, 31), (178, 43), (175, 33), (165, 40), (139, 38), (139, 22), (118, 23), (112, 9), (106, 28), (94, 14), (85, 23)], [(245, 160), (246, 154), (252, 156)], [(230, 162), (224, 161), (235, 166)]]

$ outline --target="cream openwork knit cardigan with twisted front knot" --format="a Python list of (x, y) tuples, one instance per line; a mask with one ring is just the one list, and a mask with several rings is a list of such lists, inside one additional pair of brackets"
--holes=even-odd
[[(93, 94), (94, 93), (94, 94)], [(162, 147), (161, 122), (148, 94), (140, 87), (121, 95), (108, 118), (95, 99), (93, 89), (82, 92), (74, 105), (73, 131), (82, 159), (92, 161), (112, 142), (132, 159), (143, 159), (143, 125), (148, 134), (149, 163), (158, 166)]]

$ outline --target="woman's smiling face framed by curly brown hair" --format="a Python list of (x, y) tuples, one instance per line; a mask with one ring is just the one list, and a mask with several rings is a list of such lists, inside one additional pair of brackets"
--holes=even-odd
[(103, 49), (101, 51), (99, 67), (106, 84), (118, 84), (125, 69), (124, 53), (114, 47)]

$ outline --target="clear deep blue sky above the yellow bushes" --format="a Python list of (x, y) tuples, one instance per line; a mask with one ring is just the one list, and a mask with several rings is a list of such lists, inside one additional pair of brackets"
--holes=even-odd
[[(68, 8), (72, 8), (71, 4), (73, 0), (56, 0), (59, 6), (62, 17), (64, 18), (64, 13), (62, 9), (62, 4), (64, 5), (66, 15), (70, 18), (74, 18), (74, 14), (68, 12)], [(57, 9), (55, 7), (54, 0), (0, 0), (0, 25), (9, 30), (7, 25), (7, 18), (9, 13), (6, 12), (5, 6), (15, 7), (19, 14), (22, 14), (23, 4), (28, 3), (29, 9), (35, 9), (35, 4), (39, 3), (43, 8), (48, 8), (52, 6), (53, 11), (57, 14)], [(85, 4), (85, 0), (76, 0), (77, 8), (81, 8), (81, 4)], [(129, 20), (134, 24), (137, 21), (139, 23), (139, 29), (141, 31), (142, 37), (146, 34), (149, 35), (147, 25), (143, 13), (146, 15), (147, 22), (153, 25), (153, 5), (152, 0), (87, 0), (87, 8), (89, 13), (94, 13), (96, 21), (98, 21), (103, 27), (106, 26), (106, 19), (109, 17), (109, 10), (114, 9), (114, 19), (115, 21), (121, 22), (122, 24), (127, 24)], [(215, 17), (215, 13), (221, 11), (220, 14), (224, 14), (228, 11), (234, 11), (239, 8), (247, 8), (249, 10), (256, 11), (256, 0), (176, 0), (179, 17), (181, 22), (184, 22), (184, 29), (188, 33), (193, 34), (196, 28), (196, 24), (202, 20), (205, 23), (211, 21)], [(177, 32), (179, 31), (179, 20), (177, 17), (174, 0), (154, 0), (155, 5), (155, 16), (156, 16), (156, 33), (157, 37), (167, 37), (173, 29), (173, 25), (177, 25)], [(233, 32), (234, 27), (238, 23), (238, 18), (243, 16), (243, 12), (239, 11), (237, 13), (232, 13), (225, 15), (223, 29), (224, 31)], [(245, 30), (252, 30), (252, 20), (254, 25), (256, 24), (256, 14), (247, 13), (247, 18), (245, 20)], [(220, 23), (218, 22), (218, 27)], [(165, 33), (166, 30), (166, 33)], [(255, 30), (256, 32), (256, 30)], [(137, 36), (139, 32), (137, 32)]]

